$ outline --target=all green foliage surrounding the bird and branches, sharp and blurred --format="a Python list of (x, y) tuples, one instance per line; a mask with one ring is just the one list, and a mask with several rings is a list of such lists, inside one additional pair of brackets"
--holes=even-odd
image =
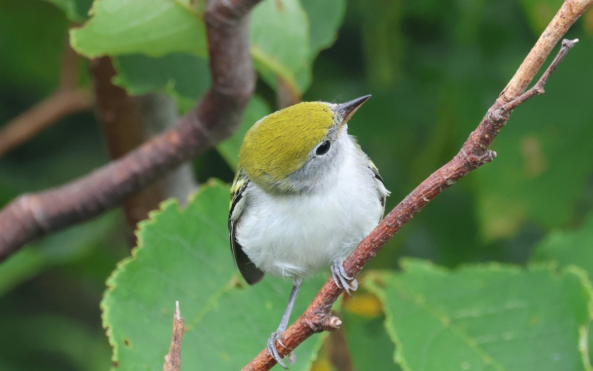
[[(349, 126), (393, 192), (390, 209), (457, 153), (559, 5), (264, 0), (250, 28), (256, 95), (237, 133), (196, 160), (199, 180), (232, 179), (243, 133), (273, 110), (279, 81), (306, 100), (372, 93)], [(210, 81), (202, 13), (190, 0), (0, 0), (0, 125), (56, 88), (66, 40), (85, 57), (111, 56), (129, 93), (165, 92), (186, 111)], [(431, 202), (363, 271), (340, 309), (355, 369), (591, 369), (591, 11), (568, 36), (581, 43), (546, 93), (514, 112), (496, 160)], [(88, 81), (81, 73), (79, 85)], [(84, 175), (106, 152), (93, 115), (66, 118), (0, 157), (0, 201)], [(120, 211), (3, 262), (0, 369), (113, 364), (98, 319), (108, 276), (101, 308), (115, 369), (161, 369), (175, 300), (184, 369), (237, 369), (255, 356), (289, 284), (239, 278), (227, 188), (208, 182), (185, 209), (164, 202), (117, 268), (129, 255)], [(323, 279), (305, 283), (293, 318)], [(328, 358), (321, 338), (297, 349), (294, 369), (331, 367), (311, 366)]]

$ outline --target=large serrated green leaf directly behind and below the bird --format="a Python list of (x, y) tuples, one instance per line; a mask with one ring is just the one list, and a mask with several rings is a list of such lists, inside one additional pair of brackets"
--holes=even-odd
[[(162, 370), (175, 301), (185, 318), (184, 369), (240, 369), (276, 330), (291, 284), (268, 276), (248, 287), (240, 279), (228, 246), (228, 200), (228, 186), (211, 182), (183, 211), (167, 201), (141, 223), (138, 248), (111, 275), (101, 303), (117, 370)], [(322, 279), (305, 283), (294, 318)], [(320, 340), (297, 349), (292, 369), (308, 369)]]

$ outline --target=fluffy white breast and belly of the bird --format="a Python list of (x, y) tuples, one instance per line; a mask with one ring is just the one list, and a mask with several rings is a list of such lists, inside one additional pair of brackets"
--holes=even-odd
[(381, 220), (383, 207), (368, 159), (352, 150), (314, 193), (270, 195), (252, 184), (237, 241), (256, 266), (275, 276), (307, 278), (344, 259)]

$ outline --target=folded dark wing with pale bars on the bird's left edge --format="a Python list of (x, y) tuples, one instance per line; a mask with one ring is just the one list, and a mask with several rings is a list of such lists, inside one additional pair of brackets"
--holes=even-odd
[(237, 170), (235, 180), (232, 182), (231, 186), (231, 206), (228, 213), (228, 230), (230, 232), (232, 259), (234, 259), (235, 265), (247, 283), (254, 285), (262, 279), (263, 272), (258, 269), (256, 265), (251, 262), (247, 254), (244, 253), (243, 248), (237, 242), (237, 236), (235, 234), (237, 222), (246, 207), (247, 199), (245, 190), (249, 185), (250, 182), (247, 175), (242, 170)]

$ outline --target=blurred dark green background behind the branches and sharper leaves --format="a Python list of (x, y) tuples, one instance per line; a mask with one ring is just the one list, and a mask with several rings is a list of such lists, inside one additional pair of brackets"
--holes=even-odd
[[(72, 27), (65, 3), (0, 0), (0, 128), (56, 88)], [(76, 4), (70, 11), (84, 15), (90, 1)], [(349, 1), (336, 42), (315, 59), (303, 99), (373, 95), (349, 128), (392, 192), (390, 210), (457, 153), (561, 4)], [(581, 225), (593, 207), (593, 12), (567, 37), (581, 42), (546, 94), (512, 114), (493, 144), (496, 160), (439, 195), (373, 267), (396, 267), (401, 256), (448, 267), (522, 264), (550, 231)], [(81, 60), (79, 85), (89, 80)], [(257, 92), (275, 107), (266, 82), (259, 80)], [(0, 157), (0, 204), (107, 161), (93, 112), (66, 117)], [(198, 182), (212, 176), (230, 182), (234, 175), (216, 150), (193, 167)], [(0, 369), (109, 367), (98, 303), (104, 281), (129, 249), (125, 218), (116, 209), (35, 241), (0, 264)]]

